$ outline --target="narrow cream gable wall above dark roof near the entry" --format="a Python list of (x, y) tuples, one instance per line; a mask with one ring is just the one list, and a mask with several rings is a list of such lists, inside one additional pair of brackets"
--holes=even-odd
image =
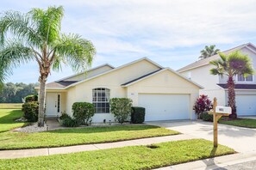
[(84, 80), (85, 78), (90, 78), (92, 76), (97, 76), (97, 75), (102, 74), (103, 72), (106, 72), (108, 70), (112, 70), (112, 68), (109, 67), (109, 65), (105, 65), (105, 66), (97, 68), (95, 70), (88, 71), (85, 74), (81, 73), (81, 74), (78, 74), (77, 76), (72, 76), (70, 78), (65, 79), (65, 81), (80, 81), (80, 80)]

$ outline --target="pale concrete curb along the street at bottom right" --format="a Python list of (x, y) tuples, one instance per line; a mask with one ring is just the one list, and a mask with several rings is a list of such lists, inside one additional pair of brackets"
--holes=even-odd
[(160, 167), (157, 170), (205, 170), (205, 169), (216, 169), (224, 170), (225, 167), (233, 166), (239, 163), (247, 161), (255, 161), (256, 152), (238, 153), (234, 155), (224, 155), (215, 158), (204, 159), (200, 161), (190, 161), (188, 163), (178, 164), (169, 167)]

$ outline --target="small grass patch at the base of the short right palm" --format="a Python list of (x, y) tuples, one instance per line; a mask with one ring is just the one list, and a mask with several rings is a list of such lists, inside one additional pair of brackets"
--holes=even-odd
[(256, 119), (253, 118), (237, 118), (236, 120), (220, 120), (220, 124), (228, 124), (247, 128), (256, 128)]

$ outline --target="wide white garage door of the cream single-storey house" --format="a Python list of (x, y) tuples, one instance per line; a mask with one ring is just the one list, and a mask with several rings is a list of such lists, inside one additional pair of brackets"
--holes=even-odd
[(139, 106), (146, 108), (145, 121), (190, 118), (189, 94), (139, 94)]

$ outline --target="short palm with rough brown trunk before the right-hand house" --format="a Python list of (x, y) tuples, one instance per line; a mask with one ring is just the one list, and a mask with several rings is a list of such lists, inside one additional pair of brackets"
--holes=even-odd
[(251, 59), (239, 51), (231, 52), (228, 55), (219, 53), (220, 59), (211, 61), (215, 68), (209, 70), (212, 75), (228, 76), (228, 106), (232, 108), (229, 118), (236, 118), (234, 76), (243, 75), (245, 77), (253, 75), (253, 64)]

